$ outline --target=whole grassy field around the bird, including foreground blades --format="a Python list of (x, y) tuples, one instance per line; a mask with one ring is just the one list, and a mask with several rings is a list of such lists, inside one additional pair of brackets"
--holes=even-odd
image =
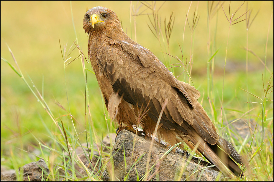
[[(242, 3), (231, 2), (231, 16)], [(52, 1), (31, 2), (29, 6), (30, 2), (1, 1), (1, 166), (17, 171), (26, 163), (44, 158), (52, 172), (51, 180), (62, 177), (58, 167), (70, 171), (72, 175), (66, 173), (70, 180), (102, 180), (109, 152), (101, 152), (101, 141), (106, 134), (115, 132), (116, 126), (107, 116), (90, 64), (84, 62), (90, 71), (83, 70), (82, 60), (76, 59), (80, 53), (73, 48), (76, 42), (87, 56), (83, 16), (87, 9), (105, 6), (117, 13), (124, 31), (133, 40), (150, 49), (167, 67), (181, 66), (173, 68), (174, 75), (201, 92), (199, 101), (220, 135), (232, 137), (232, 127), (226, 126), (232, 120), (256, 121), (257, 129), (251, 137), (239, 136), (230, 142), (250, 160), (243, 180), (273, 181), (273, 87), (265, 97), (269, 80), (273, 85), (272, 3), (245, 2), (232, 19), (239, 17), (233, 22), (238, 23), (229, 26), (225, 16), (229, 19), (228, 1), (223, 4), (224, 10), (220, 4), (216, 6), (217, 2), (212, 9), (203, 1), (156, 2), (155, 11), (147, 8), (151, 2)], [(130, 12), (136, 16), (129, 16)], [(158, 16), (153, 18), (152, 12)], [(168, 25), (170, 16), (172, 31), (167, 41), (164, 19)], [(156, 24), (155, 30), (153, 22), (157, 17), (161, 26), (157, 29)], [(64, 66), (67, 62), (61, 51), (72, 51), (64, 56), (65, 60), (71, 57), (67, 62), (76, 60)], [(183, 64), (173, 58), (176, 56)], [(89, 143), (90, 155), (98, 151), (97, 146), (93, 149), (96, 143), (102, 157), (96, 165), (99, 173), (86, 170), (87, 175), (81, 178), (76, 176), (78, 171), (73, 165), (63, 165), (68, 164), (68, 143), (71, 148)], [(82, 166), (73, 152), (70, 155), (73, 164)]]

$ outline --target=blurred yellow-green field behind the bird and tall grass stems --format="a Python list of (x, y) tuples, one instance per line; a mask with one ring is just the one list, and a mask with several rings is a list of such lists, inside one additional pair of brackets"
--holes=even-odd
[[(232, 1), (231, 11), (235, 12), (242, 3), (243, 1)], [(79, 48), (87, 56), (88, 37), (82, 28), (83, 17), (88, 9), (105, 6), (116, 12), (122, 22), (123, 30), (133, 40), (135, 40), (135, 25), (137, 39), (135, 41), (150, 49), (166, 64), (165, 60), (168, 60), (168, 55), (163, 53), (169, 52), (166, 40), (160, 38), (159, 42), (150, 31), (148, 25), (151, 27), (151, 24), (147, 14), (150, 14), (151, 11), (144, 4), (146, 2), (141, 4), (139, 1), (1, 1), (1, 57), (8, 60), (17, 69), (8, 50), (8, 45), (26, 80), (31, 86), (35, 85), (41, 93), (43, 92), (44, 99), (55, 118), (62, 118), (68, 114), (55, 104), (55, 102), (59, 102), (67, 111), (70, 109), (70, 113), (75, 118), (77, 131), (81, 133), (85, 130), (85, 76), (80, 59), (73, 61), (64, 71), (59, 41), (62, 51), (67, 45), (66, 51), (69, 52), (70, 46), (72, 46), (70, 51), (75, 47), (73, 43), (77, 39)], [(130, 16), (131, 6), (138, 10), (132, 11), (132, 13), (141, 15)], [(186, 22), (186, 14), (189, 11), (188, 19), (192, 24), (195, 9), (199, 21), (192, 34)], [(170, 36), (170, 55), (178, 56), (181, 59), (180, 45), (183, 49), (184, 61), (186, 59), (193, 61), (191, 78), (194, 86), (201, 92), (199, 101), (202, 102), (212, 118), (207, 100), (206, 68), (207, 61), (211, 57), (207, 48), (209, 44), (207, 1), (166, 1), (164, 4), (163, 1), (157, 1), (156, 10), (158, 10), (161, 22), (162, 34), (165, 34), (164, 19), (169, 20), (170, 14), (173, 12), (175, 23)], [(224, 2), (224, 10), (229, 16), (228, 1)], [(267, 82), (270, 74), (273, 73), (273, 1), (248, 1), (235, 16), (239, 17), (247, 10), (252, 10), (251, 19), (258, 12), (248, 29), (248, 49), (257, 56), (251, 53), (246, 54), (246, 21), (232, 25), (229, 29), (229, 22), (223, 10), (219, 9), (213, 16), (210, 25), (211, 39), (215, 37), (215, 50), (219, 50), (215, 56), (213, 74), (215, 108), (220, 114), (224, 79), (223, 103), (224, 108), (227, 109), (227, 120), (241, 118), (248, 111), (246, 102), (261, 102), (242, 89), (263, 98), (262, 74)], [(245, 18), (246, 15), (238, 21)], [(134, 24), (134, 20), (136, 24)], [(214, 33), (215, 31), (216, 33)], [(227, 40), (229, 40), (228, 48)], [(224, 76), (226, 48), (227, 61)], [(75, 49), (70, 55), (72, 57), (70, 61), (78, 55), (79, 51)], [(247, 55), (248, 74), (246, 73)], [(266, 63), (266, 66), (258, 57)], [(171, 59), (171, 62), (178, 63), (174, 58)], [(88, 65), (88, 68), (91, 69), (91, 66)], [(183, 68), (176, 68), (174, 75), (178, 76), (182, 71)], [(182, 74), (178, 79), (188, 82), (185, 76), (186, 74)], [(273, 84), (273, 78), (271, 80)], [(98, 135), (104, 136), (107, 133), (104, 116), (107, 110), (101, 99), (96, 77), (90, 72), (88, 72), (87, 87), (94, 126)], [(273, 93), (270, 94), (269, 99), (273, 99)], [(251, 111), (253, 113), (250, 113), (256, 120), (260, 115), (261, 106), (255, 103), (249, 103), (249, 105), (250, 109), (256, 108)], [(269, 102), (267, 106), (268, 114), (273, 118), (273, 102)], [(108, 118), (108, 116), (106, 117)], [(71, 125), (69, 119), (64, 119), (63, 122), (66, 126)], [(26, 84), (8, 64), (1, 60), (1, 158), (9, 155), (14, 148), (20, 145), (23, 145), (25, 150), (31, 147), (30, 144), (37, 145), (32, 135), (41, 141), (50, 141), (51, 138), (44, 132), (43, 123), (52, 131), (56, 130), (52, 119), (37, 102)], [(113, 128), (111, 130), (114, 132)], [(80, 135), (85, 137), (84, 134)]]

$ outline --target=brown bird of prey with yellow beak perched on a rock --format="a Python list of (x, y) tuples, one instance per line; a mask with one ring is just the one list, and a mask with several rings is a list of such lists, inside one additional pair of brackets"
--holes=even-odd
[(243, 175), (234, 162), (242, 164), (241, 156), (216, 132), (197, 101), (200, 92), (178, 81), (150, 50), (130, 39), (113, 11), (100, 6), (88, 10), (83, 29), (106, 108), (119, 130), (141, 126), (146, 136), (155, 134), (169, 146), (183, 141), (225, 176)]

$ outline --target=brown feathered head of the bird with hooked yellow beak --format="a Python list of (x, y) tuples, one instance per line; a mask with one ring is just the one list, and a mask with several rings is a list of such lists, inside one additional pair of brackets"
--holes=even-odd
[[(122, 29), (117, 15), (105, 7), (94, 7), (88, 10), (84, 16), (83, 29), (87, 34), (102, 32), (114, 33), (113, 30)], [(111, 32), (110, 32), (111, 31)]]

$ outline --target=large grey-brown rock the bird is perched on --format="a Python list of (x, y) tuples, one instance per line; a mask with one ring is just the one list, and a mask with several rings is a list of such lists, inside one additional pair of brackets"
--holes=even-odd
[[(150, 153), (148, 169), (151, 170), (147, 175), (148, 181), (224, 181), (224, 176), (215, 167), (205, 168), (211, 164), (200, 158), (179, 149), (176, 153), (170, 151), (165, 154), (168, 148), (156, 142), (153, 143), (152, 150), (149, 152), (150, 143), (150, 139), (135, 136), (127, 130), (120, 131), (103, 173), (103, 180), (143, 180)], [(197, 172), (194, 173), (194, 171)]]

